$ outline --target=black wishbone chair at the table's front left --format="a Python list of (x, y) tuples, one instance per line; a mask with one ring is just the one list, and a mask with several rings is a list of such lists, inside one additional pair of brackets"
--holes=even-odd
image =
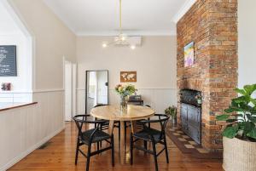
[[(113, 142), (113, 134), (107, 134), (103, 132), (100, 129), (100, 125), (104, 123), (105, 121), (98, 120), (98, 121), (88, 121), (84, 120), (84, 117), (90, 117), (90, 115), (77, 115), (73, 117), (74, 122), (77, 125), (77, 128), (79, 129), (79, 134), (77, 137), (77, 147), (76, 147), (76, 156), (75, 156), (75, 165), (78, 163), (78, 157), (79, 157), (79, 152), (87, 158), (86, 162), (86, 171), (89, 171), (89, 166), (90, 166), (90, 157), (100, 154), (103, 151), (108, 151), (111, 150), (112, 153), (112, 166), (114, 166), (114, 142)], [(96, 128), (91, 128), (89, 130), (83, 131), (83, 125), (84, 124), (96, 124)], [(91, 151), (91, 145), (95, 143), (99, 143), (102, 141), (108, 142), (108, 146), (105, 148), (98, 149), (96, 151)], [(85, 154), (82, 150), (80, 150), (81, 145), (87, 145), (87, 154)]]

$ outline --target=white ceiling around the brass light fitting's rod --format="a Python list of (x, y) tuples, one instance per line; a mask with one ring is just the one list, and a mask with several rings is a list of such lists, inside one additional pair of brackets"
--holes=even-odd
[[(195, 1), (195, 0), (193, 0)], [(115, 35), (119, 0), (44, 0), (77, 35)], [(175, 20), (191, 0), (123, 0), (123, 29), (131, 35), (176, 34)]]

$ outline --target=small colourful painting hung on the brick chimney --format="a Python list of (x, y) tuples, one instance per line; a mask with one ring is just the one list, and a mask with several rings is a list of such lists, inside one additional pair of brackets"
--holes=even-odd
[(195, 47), (194, 42), (189, 43), (184, 47), (184, 66), (193, 66), (195, 62)]

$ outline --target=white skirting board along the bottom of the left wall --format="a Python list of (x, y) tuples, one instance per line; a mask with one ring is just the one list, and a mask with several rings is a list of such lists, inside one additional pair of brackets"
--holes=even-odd
[(49, 141), (50, 139), (52, 139), (56, 134), (61, 133), (62, 130), (64, 130), (65, 126), (63, 128), (58, 129), (57, 131), (55, 131), (53, 134), (49, 134), (49, 136), (45, 137), (43, 140), (41, 140), (40, 142), (38, 142), (38, 144), (33, 145), (31, 148), (29, 148), (28, 150), (22, 152), (19, 156), (15, 157), (14, 159), (12, 159), (11, 161), (9, 161), (8, 163), (6, 163), (2, 168), (0, 168), (0, 171), (6, 171), (8, 168), (11, 168), (12, 166), (15, 165), (15, 163), (20, 162), (20, 160), (22, 160), (24, 157), (26, 157), (27, 155), (29, 155), (30, 153), (32, 153), (32, 151), (35, 151), (38, 149), (38, 147), (40, 147), (41, 145), (44, 145), (44, 143), (46, 143), (47, 141)]

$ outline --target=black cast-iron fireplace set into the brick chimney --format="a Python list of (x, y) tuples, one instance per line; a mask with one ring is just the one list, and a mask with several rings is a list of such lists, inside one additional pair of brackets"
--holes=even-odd
[(183, 132), (201, 144), (201, 104), (197, 103), (197, 95), (201, 92), (191, 89), (180, 91), (180, 116)]

